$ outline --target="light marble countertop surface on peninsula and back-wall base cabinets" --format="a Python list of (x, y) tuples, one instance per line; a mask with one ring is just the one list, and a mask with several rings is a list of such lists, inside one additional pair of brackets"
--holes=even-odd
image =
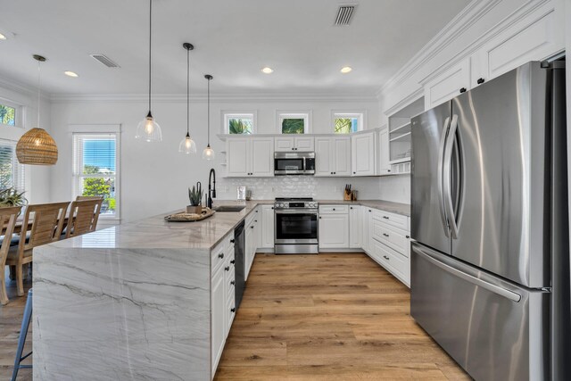
[[(362, 200), (348, 202), (343, 200), (318, 200), (327, 204), (356, 204), (371, 208), (391, 211), (409, 216), (410, 205), (391, 203), (380, 200)], [(59, 248), (118, 248), (118, 249), (193, 249), (210, 251), (212, 247), (228, 235), (236, 226), (252, 212), (257, 205), (273, 204), (274, 200), (252, 200), (246, 202), (220, 200), (219, 205), (244, 205), (243, 211), (217, 212), (211, 218), (197, 222), (167, 222), (164, 216), (177, 211), (170, 211), (157, 216), (140, 219), (112, 228), (97, 230), (84, 236), (65, 239), (51, 246)]]

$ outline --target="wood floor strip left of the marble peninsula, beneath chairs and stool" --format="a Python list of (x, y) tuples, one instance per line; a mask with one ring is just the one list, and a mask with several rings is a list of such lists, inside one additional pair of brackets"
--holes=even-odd
[[(9, 279), (7, 274), (6, 279)], [(25, 294), (19, 297), (16, 296), (16, 281), (7, 280), (6, 282), (6, 292), (10, 302), (0, 306), (0, 380), (9, 380), (12, 377), (14, 356), (18, 347), (18, 336), (20, 335), (21, 317), (24, 314), (24, 306), (26, 305), (29, 287), (31, 286), (31, 280), (24, 280)], [(32, 329), (30, 325), (24, 354), (31, 350), (31, 344)], [(23, 363), (31, 364), (32, 356), (24, 360)], [(32, 369), (21, 369), (18, 372), (18, 381), (29, 381), (31, 379)]]

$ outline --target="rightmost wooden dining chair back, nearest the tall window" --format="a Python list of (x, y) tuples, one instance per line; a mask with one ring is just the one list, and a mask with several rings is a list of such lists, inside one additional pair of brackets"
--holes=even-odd
[(65, 228), (66, 238), (91, 233), (97, 228), (103, 197), (79, 197), (77, 201), (71, 203), (70, 218), (68, 219), (68, 226)]

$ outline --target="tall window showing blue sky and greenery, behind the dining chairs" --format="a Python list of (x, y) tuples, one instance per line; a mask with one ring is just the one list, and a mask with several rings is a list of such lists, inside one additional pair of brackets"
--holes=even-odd
[(73, 134), (74, 197), (103, 196), (103, 218), (118, 218), (118, 134)]

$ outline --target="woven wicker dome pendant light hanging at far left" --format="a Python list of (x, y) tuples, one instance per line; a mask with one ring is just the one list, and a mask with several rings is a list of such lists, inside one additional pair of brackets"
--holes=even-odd
[(39, 124), (39, 66), (41, 62), (46, 61), (46, 58), (37, 54), (34, 54), (33, 57), (37, 61), (37, 128), (30, 129), (18, 140), (16, 157), (21, 164), (54, 165), (57, 162), (57, 145), (55, 145), (54, 138), (44, 128), (40, 128)]

